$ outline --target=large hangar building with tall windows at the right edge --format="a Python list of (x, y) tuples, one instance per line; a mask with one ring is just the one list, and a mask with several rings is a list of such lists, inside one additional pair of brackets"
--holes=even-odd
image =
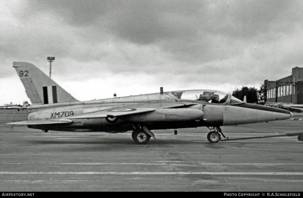
[(303, 104), (303, 68), (292, 68), (290, 76), (277, 81), (264, 81), (266, 102)]

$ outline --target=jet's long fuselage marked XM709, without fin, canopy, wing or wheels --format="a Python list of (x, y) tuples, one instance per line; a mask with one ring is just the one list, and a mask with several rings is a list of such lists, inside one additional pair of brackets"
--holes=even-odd
[[(225, 105), (192, 100), (173, 101), (165, 95), (146, 94), (95, 101), (31, 106), (28, 108), (30, 110), (28, 120), (70, 119), (70, 117), (119, 106), (125, 111), (131, 111), (136, 105), (140, 105), (141, 108), (152, 107), (156, 110), (131, 116), (94, 119), (71, 118), (72, 124), (28, 125), (28, 127), (42, 130), (117, 133), (133, 130), (134, 125), (138, 126), (143, 123), (150, 130), (178, 129), (258, 123), (284, 120), (291, 117), (289, 111), (274, 107), (247, 103)], [(128, 106), (131, 107), (128, 108)]]

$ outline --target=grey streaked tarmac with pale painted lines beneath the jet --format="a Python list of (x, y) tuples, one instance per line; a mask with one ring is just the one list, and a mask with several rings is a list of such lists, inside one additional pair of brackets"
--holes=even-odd
[[(6, 113), (6, 112), (5, 112)], [(302, 191), (297, 136), (209, 143), (206, 127), (154, 130), (137, 145), (126, 133), (44, 133), (0, 112), (1, 191)], [(2, 117), (2, 119), (1, 119)], [(302, 132), (295, 120), (221, 127), (229, 138)]]

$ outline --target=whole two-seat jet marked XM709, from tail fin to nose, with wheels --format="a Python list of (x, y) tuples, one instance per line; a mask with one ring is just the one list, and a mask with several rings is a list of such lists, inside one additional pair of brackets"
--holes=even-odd
[(14, 62), (32, 105), (28, 120), (8, 124), (55, 131), (123, 133), (146, 144), (153, 129), (208, 127), (207, 139), (226, 138), (220, 126), (285, 120), (292, 113), (278, 108), (245, 103), (215, 90), (183, 90), (78, 101), (28, 62)]

